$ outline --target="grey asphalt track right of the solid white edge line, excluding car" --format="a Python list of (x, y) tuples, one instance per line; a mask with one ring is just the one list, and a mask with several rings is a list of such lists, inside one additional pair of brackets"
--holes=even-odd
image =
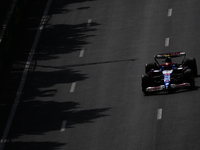
[(157, 53), (200, 66), (198, 0), (54, 1), (5, 149), (198, 150), (195, 90), (144, 96)]

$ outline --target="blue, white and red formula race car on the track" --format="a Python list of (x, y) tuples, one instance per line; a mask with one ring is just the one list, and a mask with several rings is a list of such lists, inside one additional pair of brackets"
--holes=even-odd
[[(181, 57), (180, 64), (172, 62), (172, 58)], [(174, 91), (180, 88), (195, 87), (194, 77), (197, 76), (195, 58), (185, 58), (185, 52), (163, 53), (154, 56), (154, 63), (145, 66), (142, 75), (142, 91), (144, 94), (156, 91)], [(158, 60), (165, 60), (160, 64)]]

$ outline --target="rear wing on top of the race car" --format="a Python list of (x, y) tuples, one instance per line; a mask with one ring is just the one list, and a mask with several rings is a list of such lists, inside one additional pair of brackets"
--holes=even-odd
[(181, 57), (181, 56), (184, 56), (184, 58), (183, 58), (183, 61), (184, 61), (185, 56), (186, 56), (185, 52), (172, 52), (172, 53), (157, 54), (154, 56), (154, 60), (156, 61), (157, 64), (159, 64), (157, 59), (165, 59), (167, 57), (174, 58), (174, 57)]

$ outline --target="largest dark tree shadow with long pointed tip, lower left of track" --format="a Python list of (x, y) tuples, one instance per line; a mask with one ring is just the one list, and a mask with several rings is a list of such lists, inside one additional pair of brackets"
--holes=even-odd
[(55, 101), (26, 101), (20, 106), (15, 117), (12, 135), (9, 139), (24, 135), (44, 135), (50, 131), (60, 132), (62, 121), (66, 128), (78, 127), (78, 124), (94, 123), (95, 119), (106, 117), (111, 108), (81, 109), (79, 103)]

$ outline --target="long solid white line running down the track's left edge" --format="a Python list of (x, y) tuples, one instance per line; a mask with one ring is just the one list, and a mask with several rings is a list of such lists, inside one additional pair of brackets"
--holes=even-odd
[(50, 5), (51, 5), (51, 2), (52, 2), (52, 0), (48, 0), (48, 2), (47, 2), (46, 8), (44, 10), (42, 19), (40, 21), (40, 25), (38, 27), (38, 30), (37, 30), (37, 33), (36, 33), (36, 36), (35, 36), (35, 39), (34, 39), (34, 42), (33, 42), (33, 45), (32, 45), (32, 48), (30, 50), (30, 53), (29, 53), (29, 56), (28, 56), (28, 60), (26, 62), (26, 66), (25, 66), (23, 74), (22, 74), (20, 85), (19, 85), (16, 97), (15, 97), (15, 100), (14, 100), (14, 103), (13, 103), (9, 118), (8, 118), (8, 121), (6, 123), (6, 127), (4, 129), (3, 136), (1, 138), (1, 141), (3, 141), (3, 142), (0, 143), (0, 150), (3, 150), (3, 148), (4, 148), (5, 141), (7, 139), (8, 132), (10, 130), (10, 127), (11, 127), (11, 124), (12, 124), (12, 121), (13, 121), (13, 118), (14, 118), (14, 115), (15, 115), (15, 112), (16, 112), (20, 97), (21, 97), (21, 93), (22, 93), (22, 90), (23, 90), (23, 87), (24, 87), (24, 84), (25, 84), (25, 81), (26, 81), (26, 78), (27, 78), (28, 69), (30, 67), (31, 61), (33, 59), (33, 54), (35, 53), (35, 49), (36, 49), (36, 46), (38, 44), (39, 37), (40, 37), (42, 29), (44, 27), (44, 18), (46, 18), (47, 14), (49, 12), (49, 8), (50, 8)]

